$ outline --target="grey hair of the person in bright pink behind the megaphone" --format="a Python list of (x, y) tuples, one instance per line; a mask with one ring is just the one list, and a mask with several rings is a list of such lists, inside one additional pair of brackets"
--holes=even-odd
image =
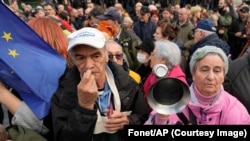
[(167, 59), (166, 66), (172, 69), (175, 65), (181, 62), (181, 50), (178, 45), (172, 41), (155, 41), (155, 49), (157, 50), (157, 57)]

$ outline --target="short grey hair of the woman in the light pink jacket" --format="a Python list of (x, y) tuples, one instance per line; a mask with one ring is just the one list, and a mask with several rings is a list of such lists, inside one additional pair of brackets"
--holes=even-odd
[(194, 73), (196, 71), (196, 68), (197, 68), (197, 62), (200, 61), (201, 59), (203, 59), (208, 54), (216, 54), (223, 60), (224, 72), (226, 75), (228, 72), (228, 58), (227, 58), (225, 52), (221, 48), (216, 47), (216, 46), (204, 46), (202, 48), (198, 48), (194, 52), (194, 54), (192, 55), (192, 58), (190, 60), (190, 63), (189, 63), (190, 72)]

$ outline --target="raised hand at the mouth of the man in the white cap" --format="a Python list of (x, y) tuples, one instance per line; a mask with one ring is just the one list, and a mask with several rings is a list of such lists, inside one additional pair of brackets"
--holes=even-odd
[(87, 70), (82, 77), (82, 80), (77, 85), (79, 105), (93, 109), (98, 96), (98, 88), (95, 81), (95, 76), (91, 70)]

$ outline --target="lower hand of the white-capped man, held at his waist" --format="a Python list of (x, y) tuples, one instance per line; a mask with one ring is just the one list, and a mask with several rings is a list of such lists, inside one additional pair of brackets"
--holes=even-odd
[(113, 114), (107, 118), (104, 125), (108, 131), (117, 131), (123, 129), (124, 125), (128, 125), (129, 120), (124, 112), (113, 111)]

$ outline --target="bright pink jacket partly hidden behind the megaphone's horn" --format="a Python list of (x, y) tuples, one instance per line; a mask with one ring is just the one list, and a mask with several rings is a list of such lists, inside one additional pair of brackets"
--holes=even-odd
[[(187, 83), (186, 81), (186, 75), (182, 71), (181, 67), (179, 65), (174, 66), (171, 70), (169, 70), (168, 75), (166, 77), (172, 77), (172, 78), (177, 78), (184, 83)], [(143, 90), (144, 90), (144, 96), (147, 97), (149, 88), (157, 81), (157, 77), (151, 72), (146, 79), (145, 83), (143, 84)]]

